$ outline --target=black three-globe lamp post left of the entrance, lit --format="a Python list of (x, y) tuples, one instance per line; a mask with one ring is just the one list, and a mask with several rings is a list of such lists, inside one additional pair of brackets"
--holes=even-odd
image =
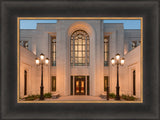
[(44, 100), (44, 95), (43, 95), (43, 65), (46, 64), (48, 65), (49, 63), (49, 59), (48, 58), (44, 58), (44, 54), (41, 53), (40, 54), (40, 58), (36, 58), (35, 60), (36, 65), (41, 65), (41, 86), (40, 86), (40, 100)]

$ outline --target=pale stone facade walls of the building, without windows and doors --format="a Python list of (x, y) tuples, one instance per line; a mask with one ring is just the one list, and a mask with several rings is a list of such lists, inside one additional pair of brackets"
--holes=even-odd
[[(90, 61), (88, 66), (70, 64), (70, 37), (76, 30), (84, 30), (89, 35)], [(116, 67), (110, 61), (104, 66), (104, 37), (109, 37), (109, 59), (119, 53), (125, 58), (120, 67), (120, 94), (133, 95), (133, 70), (136, 71), (136, 94), (141, 96), (140, 80), (140, 30), (125, 30), (121, 23), (103, 23), (102, 20), (58, 20), (57, 23), (38, 23), (35, 30), (20, 30), (20, 41), (27, 41), (28, 46), (20, 46), (20, 97), (24, 97), (24, 70), (27, 70), (27, 95), (40, 92), (40, 66), (35, 65), (35, 58), (44, 53), (51, 60), (51, 38), (56, 37), (56, 66), (44, 66), (44, 92), (52, 92), (51, 76), (56, 76), (56, 91), (62, 96), (75, 94), (75, 84), (71, 76), (85, 76), (85, 94), (87, 94), (87, 76), (89, 76), (89, 95), (99, 96), (104, 93), (104, 76), (109, 78), (110, 92), (116, 90)], [(136, 46), (133, 42), (136, 41)], [(22, 44), (21, 44), (22, 45)], [(73, 87), (73, 88), (72, 88)], [(72, 89), (71, 89), (72, 88)]]

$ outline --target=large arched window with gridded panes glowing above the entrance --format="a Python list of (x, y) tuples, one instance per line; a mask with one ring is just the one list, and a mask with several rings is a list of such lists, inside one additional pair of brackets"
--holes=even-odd
[(71, 65), (89, 65), (89, 35), (84, 30), (77, 30), (71, 35)]

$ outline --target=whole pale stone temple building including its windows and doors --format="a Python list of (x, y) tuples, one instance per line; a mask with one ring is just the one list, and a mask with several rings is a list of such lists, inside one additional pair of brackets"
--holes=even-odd
[(117, 67), (111, 58), (125, 58), (119, 66), (120, 95), (141, 97), (141, 30), (124, 29), (123, 23), (103, 20), (57, 20), (20, 29), (20, 97), (40, 94), (44, 54), (44, 93), (60, 96), (116, 93)]

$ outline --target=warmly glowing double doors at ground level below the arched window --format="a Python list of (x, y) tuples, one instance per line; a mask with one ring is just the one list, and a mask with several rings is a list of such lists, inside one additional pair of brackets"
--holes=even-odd
[(85, 95), (85, 77), (75, 77), (75, 95)]

